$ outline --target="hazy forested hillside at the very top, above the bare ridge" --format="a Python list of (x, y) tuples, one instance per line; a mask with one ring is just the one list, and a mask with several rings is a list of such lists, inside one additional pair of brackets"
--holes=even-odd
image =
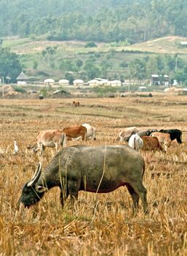
[(97, 42), (187, 37), (184, 0), (0, 0), (0, 37)]

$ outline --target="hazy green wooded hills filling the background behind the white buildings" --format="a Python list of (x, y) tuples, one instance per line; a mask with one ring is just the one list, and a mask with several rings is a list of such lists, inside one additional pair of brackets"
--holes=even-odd
[(187, 37), (186, 12), (182, 0), (1, 0), (0, 77), (15, 83), (23, 69), (32, 82), (53, 77), (72, 84), (167, 74), (187, 84), (187, 50), (172, 37), (148, 41)]

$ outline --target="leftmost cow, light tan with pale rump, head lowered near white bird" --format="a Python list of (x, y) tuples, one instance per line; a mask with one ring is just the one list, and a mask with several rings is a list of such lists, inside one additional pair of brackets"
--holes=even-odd
[(61, 129), (47, 129), (40, 131), (37, 138), (34, 140), (33, 146), (27, 148), (33, 149), (34, 153), (40, 151), (42, 155), (45, 151), (45, 147), (56, 148), (59, 151), (61, 147), (66, 146), (66, 135)]

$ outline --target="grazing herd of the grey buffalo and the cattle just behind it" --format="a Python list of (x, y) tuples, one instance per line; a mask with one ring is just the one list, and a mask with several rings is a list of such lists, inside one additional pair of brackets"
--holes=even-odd
[[(90, 124), (39, 132), (32, 148), (43, 154), (45, 147), (55, 147), (57, 154), (42, 171), (39, 163), (34, 176), (22, 190), (19, 203), (29, 207), (37, 203), (52, 187), (61, 189), (61, 205), (68, 196), (74, 202), (80, 190), (95, 193), (111, 192), (126, 186), (133, 200), (133, 211), (139, 198), (148, 213), (146, 189), (142, 184), (145, 161), (140, 150), (167, 151), (172, 143), (182, 143), (179, 129), (121, 129), (113, 146), (66, 146), (67, 140), (96, 140), (96, 129)], [(60, 150), (61, 149), (61, 150)], [(65, 188), (64, 188), (65, 187)]]

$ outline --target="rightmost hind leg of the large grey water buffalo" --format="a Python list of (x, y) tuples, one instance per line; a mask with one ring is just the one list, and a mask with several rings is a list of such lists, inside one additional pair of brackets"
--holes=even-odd
[(143, 186), (142, 181), (131, 182), (131, 187), (140, 197), (145, 214), (148, 214), (147, 189)]

